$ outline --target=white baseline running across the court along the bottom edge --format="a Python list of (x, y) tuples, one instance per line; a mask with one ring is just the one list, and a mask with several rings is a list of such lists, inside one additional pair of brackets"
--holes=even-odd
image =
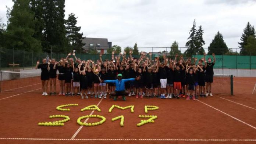
[(256, 139), (136, 139), (136, 138), (5, 138), (0, 140), (45, 140), (45, 141), (256, 141)]

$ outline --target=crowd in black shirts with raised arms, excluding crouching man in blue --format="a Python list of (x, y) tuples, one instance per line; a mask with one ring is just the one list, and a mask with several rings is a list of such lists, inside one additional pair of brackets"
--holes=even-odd
[[(71, 55), (75, 58), (71, 58)], [(95, 98), (107, 98), (107, 94), (115, 90), (113, 83), (104, 83), (104, 80), (114, 80), (118, 74), (122, 79), (140, 78), (126, 82), (125, 88), (129, 96), (136, 98), (159, 97), (180, 98), (186, 97), (195, 100), (200, 97), (212, 96), (213, 66), (215, 55), (206, 61), (204, 57), (184, 59), (182, 55), (175, 55), (174, 59), (163, 55), (163, 60), (152, 54), (141, 53), (139, 58), (132, 57), (132, 51), (114, 56), (111, 60), (102, 60), (102, 54), (97, 61), (81, 60), (75, 52), (69, 53), (60, 61), (43, 59), (42, 64), (37, 62), (36, 69), (42, 69), (41, 80), (43, 95), (47, 96), (48, 82), (50, 81), (50, 95), (56, 95), (56, 78), (60, 84), (59, 96), (81, 96), (82, 99), (90, 95)], [(149, 56), (149, 57), (148, 57)]]

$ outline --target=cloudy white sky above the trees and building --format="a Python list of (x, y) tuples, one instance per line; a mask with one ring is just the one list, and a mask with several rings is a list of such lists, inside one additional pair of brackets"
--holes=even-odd
[[(12, 5), (0, 0), (2, 21)], [(205, 31), (204, 47), (220, 31), (229, 48), (238, 48), (247, 22), (256, 26), (256, 0), (66, 0), (65, 5), (66, 17), (71, 12), (78, 17), (84, 36), (119, 46), (170, 47), (176, 40), (185, 47), (196, 19)]]

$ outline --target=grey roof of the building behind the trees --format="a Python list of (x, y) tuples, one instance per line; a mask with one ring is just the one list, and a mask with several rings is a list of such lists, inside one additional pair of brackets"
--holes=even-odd
[[(82, 40), (82, 43), (85, 45), (83, 46), (85, 49), (89, 47), (97, 47), (98, 44), (100, 44), (99, 49), (109, 49), (111, 46), (109, 45), (109, 42), (107, 39), (104, 38), (93, 38), (93, 37), (85, 37)], [(111, 42), (110, 42), (111, 43)], [(90, 44), (93, 44), (93, 46), (90, 46)]]

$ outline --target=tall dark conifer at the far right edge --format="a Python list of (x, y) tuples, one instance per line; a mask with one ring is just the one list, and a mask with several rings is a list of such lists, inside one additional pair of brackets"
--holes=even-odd
[(249, 36), (256, 37), (256, 33), (255, 33), (255, 28), (248, 22), (245, 29), (243, 29), (243, 34), (240, 38), (242, 42), (240, 43), (238, 42), (238, 44), (240, 45), (239, 47), (241, 48), (240, 50), (241, 55), (249, 55), (248, 51), (246, 52), (245, 50), (245, 45), (247, 44), (247, 38)]

